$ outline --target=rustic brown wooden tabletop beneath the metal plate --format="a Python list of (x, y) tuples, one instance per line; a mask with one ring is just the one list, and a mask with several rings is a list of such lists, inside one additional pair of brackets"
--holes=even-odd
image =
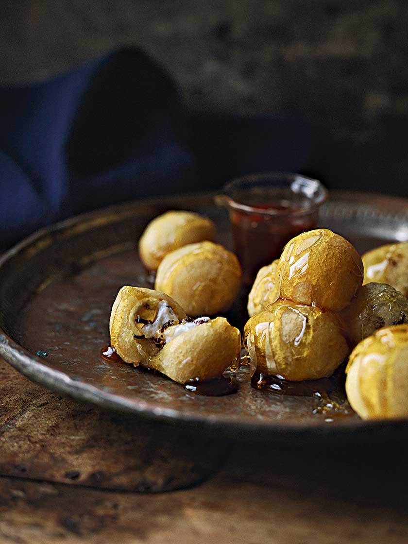
[(225, 442), (0, 374), (0, 542), (408, 542), (402, 444)]

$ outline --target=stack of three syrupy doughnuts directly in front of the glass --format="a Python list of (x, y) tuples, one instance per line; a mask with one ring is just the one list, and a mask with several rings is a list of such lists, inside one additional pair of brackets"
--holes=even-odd
[(270, 292), (259, 273), (249, 308), (269, 304), (244, 329), (257, 372), (292, 381), (330, 376), (350, 353), (339, 311), (362, 284), (360, 256), (343, 237), (317, 229), (290, 240), (271, 269)]

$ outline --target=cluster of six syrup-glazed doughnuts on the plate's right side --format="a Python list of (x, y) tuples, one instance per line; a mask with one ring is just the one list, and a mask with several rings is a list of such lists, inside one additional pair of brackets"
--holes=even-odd
[(346, 368), (353, 409), (365, 419), (408, 417), (407, 263), (408, 243), (361, 259), (325, 229), (290, 240), (249, 294), (244, 344), (257, 371), (321, 378), (355, 347)]

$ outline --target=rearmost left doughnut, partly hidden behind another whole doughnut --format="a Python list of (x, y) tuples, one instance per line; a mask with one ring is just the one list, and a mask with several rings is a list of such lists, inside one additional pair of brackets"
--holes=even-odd
[(194, 212), (166, 212), (150, 221), (141, 235), (140, 259), (146, 268), (157, 270), (170, 251), (214, 238), (215, 225), (210, 219)]

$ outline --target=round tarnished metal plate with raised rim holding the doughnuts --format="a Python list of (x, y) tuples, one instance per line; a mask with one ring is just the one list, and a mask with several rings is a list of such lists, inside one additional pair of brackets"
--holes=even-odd
[[(259, 392), (241, 376), (227, 397), (194, 395), (165, 376), (103, 361), (108, 320), (123, 285), (149, 285), (136, 245), (150, 219), (165, 209), (193, 209), (218, 226), (230, 246), (228, 220), (213, 195), (138, 201), (84, 214), (42, 230), (0, 261), (0, 355), (30, 379), (109, 410), (160, 419), (218, 435), (302, 442), (408, 437), (404, 421), (361, 421), (352, 410), (332, 419), (313, 413), (312, 397)], [(335, 193), (320, 224), (343, 234), (358, 251), (408, 239), (408, 202), (385, 196)], [(245, 293), (227, 317), (242, 327)], [(38, 355), (37, 355), (38, 354)], [(47, 355), (45, 355), (47, 354)], [(344, 388), (336, 400), (347, 407)]]

